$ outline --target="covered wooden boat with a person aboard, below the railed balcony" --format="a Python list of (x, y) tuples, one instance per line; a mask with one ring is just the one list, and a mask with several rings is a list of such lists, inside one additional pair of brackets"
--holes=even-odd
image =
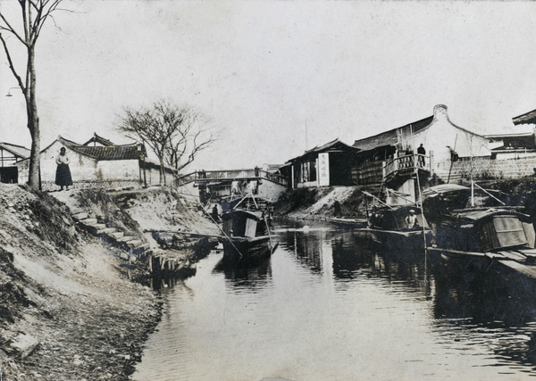
[[(417, 224), (407, 228), (406, 216), (415, 212)], [(431, 243), (431, 228), (423, 217), (421, 208), (413, 204), (383, 205), (369, 213), (368, 226), (354, 230), (358, 236), (381, 244), (388, 250), (418, 251)], [(426, 241), (425, 241), (426, 240)]]

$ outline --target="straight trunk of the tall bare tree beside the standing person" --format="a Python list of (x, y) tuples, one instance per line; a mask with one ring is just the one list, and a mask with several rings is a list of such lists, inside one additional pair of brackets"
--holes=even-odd
[(36, 102), (36, 69), (34, 46), (28, 49), (29, 87), (26, 88), (26, 112), (28, 115), (28, 129), (31, 137), (31, 151), (29, 154), (28, 185), (32, 189), (40, 189), (40, 156), (41, 134), (39, 131), (38, 104)]

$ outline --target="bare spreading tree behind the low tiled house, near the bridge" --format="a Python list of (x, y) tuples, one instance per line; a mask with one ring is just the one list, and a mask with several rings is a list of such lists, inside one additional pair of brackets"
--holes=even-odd
[(160, 100), (151, 108), (124, 108), (119, 130), (151, 147), (160, 162), (160, 183), (166, 184), (166, 164), (177, 174), (194, 161), (199, 151), (214, 143), (203, 120), (203, 115), (191, 107)]

